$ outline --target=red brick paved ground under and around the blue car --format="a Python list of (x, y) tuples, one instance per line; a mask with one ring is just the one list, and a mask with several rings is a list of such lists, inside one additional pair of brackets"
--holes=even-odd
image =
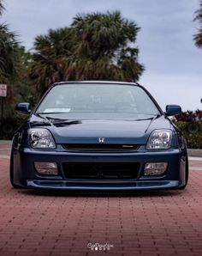
[[(202, 161), (185, 191), (33, 192), (9, 185), (0, 145), (0, 255), (202, 255)], [(109, 243), (109, 251), (87, 248)]]

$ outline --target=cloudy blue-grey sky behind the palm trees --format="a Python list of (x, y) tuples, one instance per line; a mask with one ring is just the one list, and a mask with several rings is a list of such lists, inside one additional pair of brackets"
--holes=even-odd
[(202, 49), (194, 46), (199, 0), (4, 0), (0, 22), (19, 34), (27, 50), (49, 28), (69, 26), (78, 13), (119, 10), (141, 28), (136, 46), (146, 70), (140, 77), (159, 105), (202, 110)]

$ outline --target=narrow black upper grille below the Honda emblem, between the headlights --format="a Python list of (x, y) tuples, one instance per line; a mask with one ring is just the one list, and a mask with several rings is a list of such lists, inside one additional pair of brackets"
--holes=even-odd
[(68, 143), (62, 144), (69, 151), (92, 151), (92, 152), (131, 152), (137, 150), (138, 144), (107, 144), (107, 143)]

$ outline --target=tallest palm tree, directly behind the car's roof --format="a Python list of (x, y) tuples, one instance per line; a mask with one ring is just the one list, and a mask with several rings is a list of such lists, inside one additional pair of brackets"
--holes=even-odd
[[(144, 67), (138, 63), (134, 42), (140, 27), (120, 12), (77, 15), (72, 23), (75, 44), (66, 72), (76, 79), (135, 82)], [(133, 45), (133, 46), (129, 46)]]

